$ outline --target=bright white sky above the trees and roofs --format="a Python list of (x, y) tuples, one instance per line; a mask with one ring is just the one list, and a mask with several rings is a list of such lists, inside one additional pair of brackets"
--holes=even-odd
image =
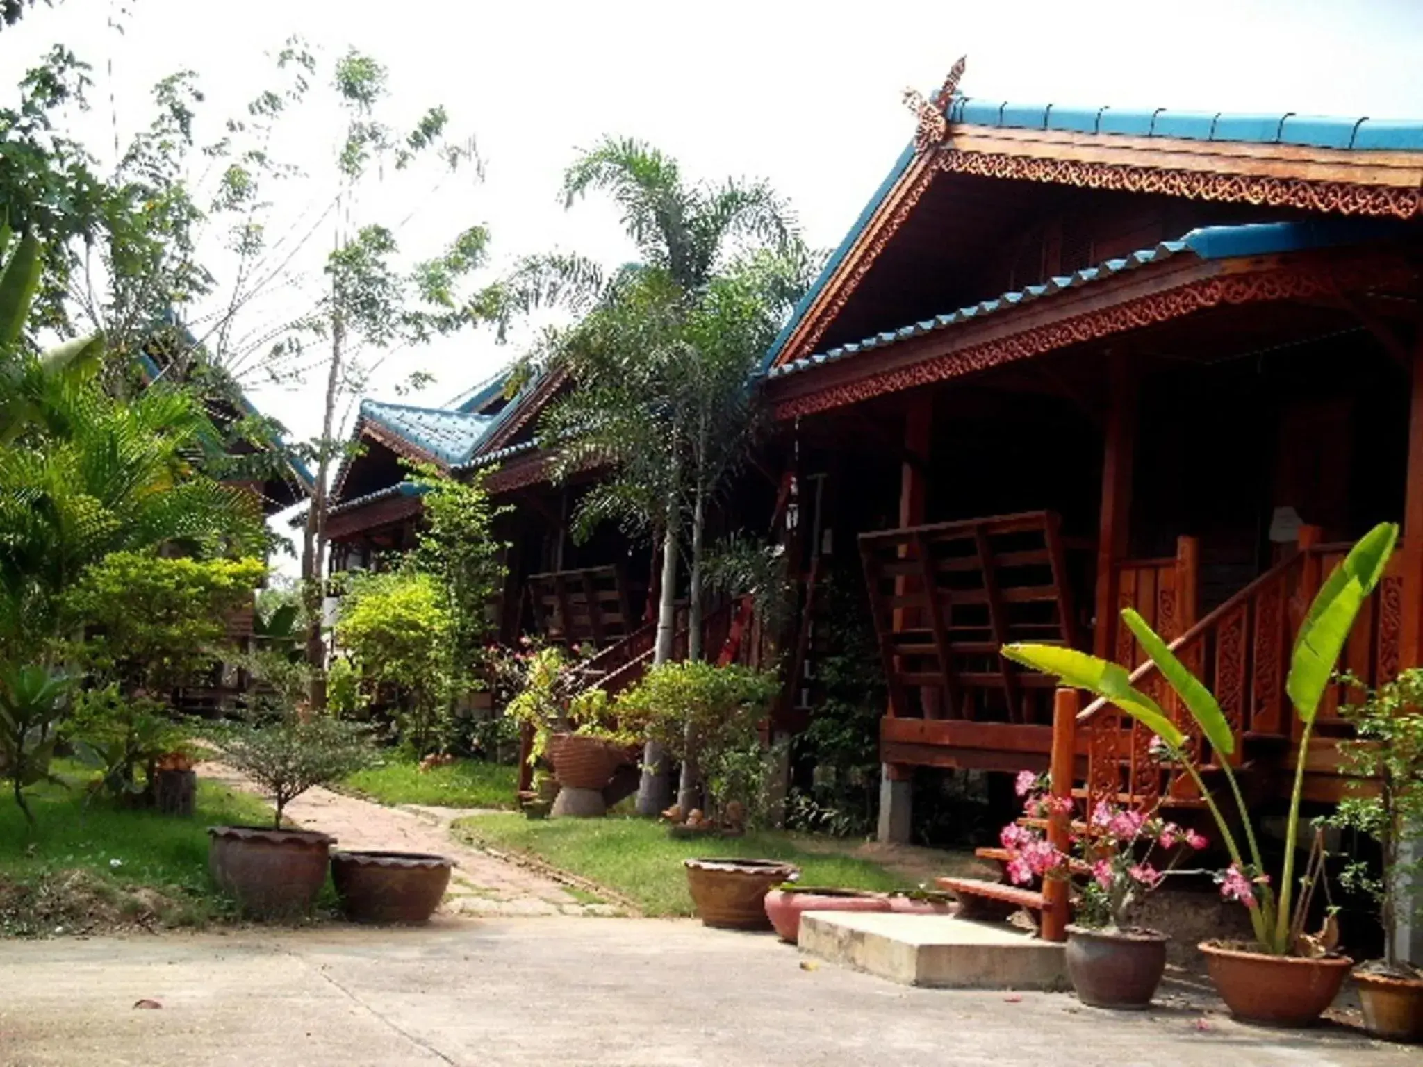
[[(1027, 102), (1298, 111), (1423, 118), (1423, 0), (1019, 0), (865, 3), (501, 3), (480, 0), (121, 0), (127, 34), (105, 30), (105, 0), (64, 0), (0, 37), (0, 94), (54, 41), (95, 65), (87, 137), (145, 118), (148, 87), (179, 67), (201, 74), (213, 120), (270, 84), (263, 53), (292, 33), (329, 57), (347, 46), (390, 68), (398, 108), (433, 102), (478, 138), (487, 181), (448, 184), (414, 203), (383, 188), (364, 219), (401, 230), (413, 255), (472, 222), (492, 229), (492, 276), (511, 258), (554, 246), (623, 262), (610, 209), (564, 212), (562, 169), (602, 134), (645, 138), (693, 178), (761, 176), (830, 248), (912, 132), (901, 92), (933, 90), (966, 53), (962, 88)], [(108, 64), (112, 63), (112, 77)], [(209, 128), (209, 134), (212, 129)], [(333, 125), (295, 131), (314, 164)], [(287, 203), (302, 211), (306, 203)], [(314, 242), (316, 250), (330, 246)], [(221, 260), (218, 260), (221, 266)], [(248, 324), (255, 326), (253, 323)], [(443, 403), (514, 354), (487, 334), (398, 353), (370, 394), (421, 367), (421, 403)], [(322, 383), (253, 388), (295, 435), (319, 430)]]

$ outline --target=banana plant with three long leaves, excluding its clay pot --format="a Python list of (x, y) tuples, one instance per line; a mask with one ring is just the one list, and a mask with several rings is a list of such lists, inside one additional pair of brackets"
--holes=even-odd
[[(1349, 640), (1349, 632), (1353, 629), (1359, 612), (1383, 578), (1383, 569), (1393, 555), (1397, 538), (1399, 528), (1393, 522), (1382, 522), (1365, 534), (1321, 586), (1295, 637), (1285, 691), (1295, 707), (1295, 714), (1299, 716), (1302, 730), (1299, 757), (1295, 761), (1294, 790), (1289, 797), (1289, 819), (1285, 829), (1288, 845), (1278, 882), (1278, 898), (1264, 876), (1265, 865), (1251, 825), (1249, 808), (1245, 805), (1229, 760), (1221, 760), (1220, 768), (1225, 774), (1241, 825), (1245, 828), (1248, 856), (1241, 851), (1239, 842), (1231, 832), (1211, 790), (1207, 788), (1200, 764), (1187, 753), (1185, 734), (1150, 696), (1131, 684), (1131, 676), (1126, 667), (1053, 644), (1017, 643), (1003, 646), (1003, 654), (1007, 659), (1044, 674), (1053, 674), (1064, 686), (1084, 689), (1107, 700), (1161, 740), (1170, 758), (1192, 778), (1205, 800), (1221, 832), (1221, 841), (1229, 852), (1234, 869), (1249, 875), (1252, 886), (1247, 886), (1247, 892), (1257, 905), (1251, 908), (1251, 923), (1261, 950), (1269, 955), (1282, 956), (1294, 952), (1295, 932), (1301, 929), (1298, 919), (1302, 916), (1295, 916), (1291, 911), (1295, 882), (1294, 841), (1299, 831), (1305, 753), (1309, 750), (1309, 737), (1319, 711), (1319, 701), (1329, 687), (1339, 653), (1343, 652), (1343, 646)], [(1235, 751), (1235, 736), (1221, 711), (1220, 701), (1210, 689), (1175, 657), (1167, 643), (1137, 612), (1130, 607), (1124, 609), (1121, 620), (1141, 643), (1143, 652), (1157, 664), (1167, 684), (1181, 699), (1201, 736), (1210, 741), (1217, 753), (1231, 755)]]

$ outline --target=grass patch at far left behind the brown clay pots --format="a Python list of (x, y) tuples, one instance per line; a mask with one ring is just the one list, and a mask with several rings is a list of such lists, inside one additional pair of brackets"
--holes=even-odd
[(0, 935), (186, 926), (229, 913), (208, 878), (208, 827), (268, 822), (266, 804), (199, 780), (194, 818), (118, 809), (104, 795), (85, 807), (90, 773), (60, 761), (54, 771), (71, 785), (26, 791), (33, 831), (9, 792), (0, 797)]

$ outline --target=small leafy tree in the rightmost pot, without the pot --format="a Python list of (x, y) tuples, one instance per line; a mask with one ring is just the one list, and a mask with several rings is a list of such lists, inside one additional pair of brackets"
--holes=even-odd
[[(1375, 876), (1366, 862), (1353, 861), (1339, 881), (1379, 903), (1385, 967), (1407, 975), (1399, 957), (1397, 928), (1399, 906), (1407, 906), (1409, 888), (1423, 879), (1423, 861), (1402, 856), (1402, 845), (1423, 827), (1423, 669), (1405, 670), (1376, 690), (1352, 676), (1345, 680), (1365, 691), (1360, 703), (1343, 708), (1359, 737), (1339, 743), (1345, 771), (1358, 778), (1329, 822), (1377, 841), (1383, 869)], [(1423, 913), (1423, 908), (1419, 911)]]

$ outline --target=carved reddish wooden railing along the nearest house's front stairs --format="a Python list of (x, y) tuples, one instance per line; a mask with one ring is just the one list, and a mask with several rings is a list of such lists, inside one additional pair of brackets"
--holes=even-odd
[[(1215, 693), (1235, 737), (1228, 757), (1239, 764), (1248, 741), (1296, 737), (1296, 717), (1285, 693), (1295, 633), (1321, 582), (1348, 552), (1348, 545), (1321, 545), (1318, 531), (1301, 531), (1298, 551), (1241, 589), (1184, 633), (1170, 640), (1175, 656)], [(1340, 669), (1369, 684), (1397, 673), (1402, 579), (1390, 565), (1350, 636)], [(1200, 737), (1190, 713), (1175, 697), (1155, 663), (1141, 662), (1136, 642), (1118, 640), (1118, 660), (1136, 664), (1133, 684), (1151, 696), (1187, 734), (1188, 751), (1210, 768), (1221, 754)], [(1168, 635), (1163, 635), (1168, 636)], [(1331, 690), (1321, 706), (1321, 728), (1342, 727), (1340, 693)], [(1191, 778), (1151, 750), (1151, 733), (1104, 700), (1076, 717), (1073, 744), (1086, 750), (1087, 809), (1099, 801), (1153, 808), (1161, 801), (1197, 795)], [(1288, 745), (1286, 745), (1288, 747)]]

